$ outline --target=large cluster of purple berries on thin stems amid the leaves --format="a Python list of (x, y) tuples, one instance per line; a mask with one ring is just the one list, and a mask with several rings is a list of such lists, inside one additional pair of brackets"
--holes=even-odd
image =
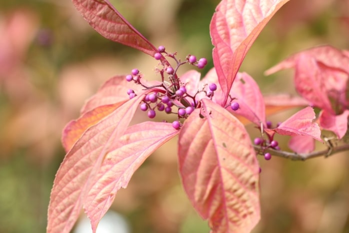
[[(199, 102), (195, 99), (196, 94), (204, 92), (208, 98), (212, 98), (217, 86), (211, 83), (207, 91), (197, 91), (194, 96), (189, 95), (186, 91), (185, 84), (181, 83), (176, 75), (178, 68), (188, 63), (202, 69), (207, 64), (207, 60), (205, 58), (197, 60), (195, 56), (188, 55), (185, 61), (181, 62), (176, 59), (175, 55), (175, 53), (167, 53), (163, 46), (158, 47), (158, 52), (154, 54), (155, 60), (160, 62), (160, 68), (157, 68), (156, 71), (161, 75), (161, 84), (151, 87), (143, 85), (141, 82), (142, 75), (137, 69), (133, 69), (131, 74), (126, 75), (126, 81), (141, 85), (144, 89), (153, 90), (144, 96), (139, 105), (140, 110), (144, 112), (147, 111), (147, 116), (150, 119), (156, 116), (156, 111), (176, 114), (177, 120), (172, 122), (172, 126), (174, 129), (179, 129), (181, 126), (180, 120), (187, 118), (195, 108), (200, 107)], [(176, 67), (173, 68), (170, 66), (164, 57), (173, 59), (176, 63)], [(129, 89), (127, 94), (130, 99), (136, 96), (132, 89)]]

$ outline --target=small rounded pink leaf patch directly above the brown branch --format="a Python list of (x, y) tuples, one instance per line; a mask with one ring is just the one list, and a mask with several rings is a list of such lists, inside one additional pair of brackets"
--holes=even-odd
[(288, 147), (298, 154), (310, 153), (315, 149), (315, 141), (307, 135), (294, 135), (289, 140)]

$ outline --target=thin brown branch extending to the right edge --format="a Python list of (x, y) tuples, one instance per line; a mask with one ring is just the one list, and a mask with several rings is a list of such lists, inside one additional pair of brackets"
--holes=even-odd
[(320, 150), (320, 151), (314, 151), (311, 153), (302, 153), (298, 154), (295, 152), (287, 152), (287, 151), (282, 151), (282, 150), (274, 150), (271, 148), (261, 148), (260, 146), (253, 145), (255, 151), (258, 154), (263, 154), (265, 152), (269, 152), (272, 155), (283, 157), (283, 158), (289, 158), (291, 160), (306, 160), (310, 158), (316, 158), (316, 157), (328, 157), (330, 155), (333, 155), (335, 153), (349, 150), (349, 144), (341, 145), (341, 146), (335, 146), (335, 147), (328, 147), (325, 150)]

